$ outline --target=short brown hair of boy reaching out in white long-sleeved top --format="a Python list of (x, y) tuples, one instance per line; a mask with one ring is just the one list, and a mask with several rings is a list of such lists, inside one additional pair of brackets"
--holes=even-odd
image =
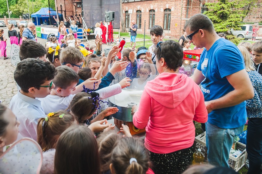
[(59, 66), (56, 68), (57, 75), (55, 75), (53, 79), (53, 83), (55, 84), (55, 89), (60, 87), (62, 89), (66, 89), (72, 83), (79, 82), (78, 74), (71, 68), (66, 65)]

